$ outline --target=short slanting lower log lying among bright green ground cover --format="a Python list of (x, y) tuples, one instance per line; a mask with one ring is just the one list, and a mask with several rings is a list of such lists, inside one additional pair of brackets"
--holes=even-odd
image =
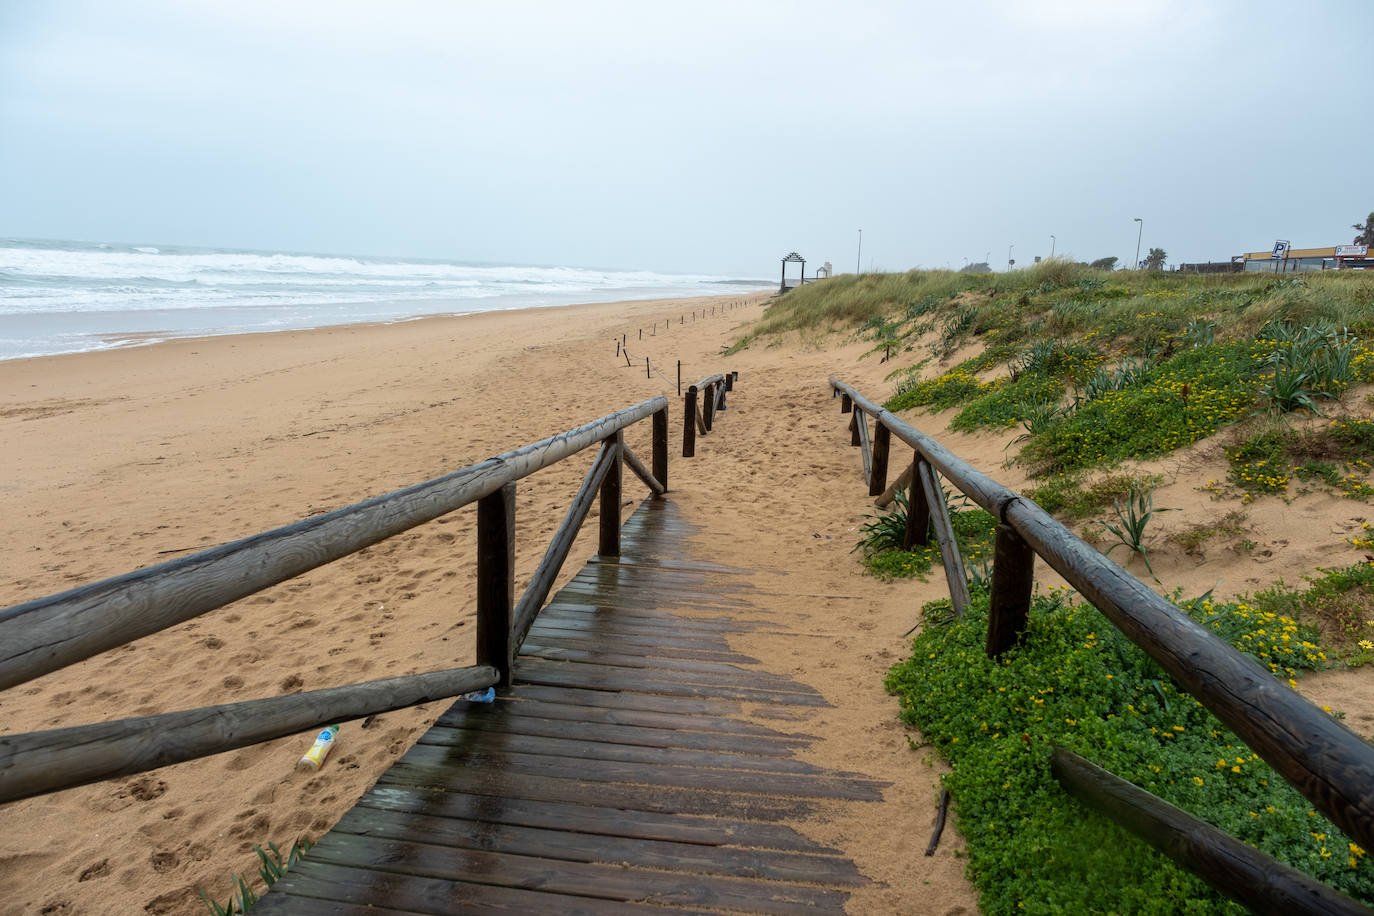
[(1371, 916), (1374, 912), (1073, 751), (1054, 748), (1050, 768), (1080, 802), (1260, 916)]

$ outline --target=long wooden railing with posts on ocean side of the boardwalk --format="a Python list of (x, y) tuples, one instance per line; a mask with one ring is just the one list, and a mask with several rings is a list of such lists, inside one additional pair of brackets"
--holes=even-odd
[[(653, 470), (622, 430), (653, 417)], [(600, 452), (514, 600), (515, 482)], [(0, 689), (183, 623), (477, 503), (477, 665), (287, 696), (0, 736), (0, 802), (114, 779), (510, 683), (511, 662), (600, 494), (599, 553), (620, 555), (621, 467), (668, 489), (668, 398), (655, 397), (445, 477), (0, 611)]]

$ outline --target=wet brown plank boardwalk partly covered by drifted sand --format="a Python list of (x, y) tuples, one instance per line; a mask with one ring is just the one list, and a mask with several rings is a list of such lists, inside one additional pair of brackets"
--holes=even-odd
[(853, 862), (785, 825), (881, 784), (763, 725), (826, 706), (730, 650), (771, 628), (688, 556), (671, 500), (534, 622), (514, 685), (456, 702), (253, 912), (842, 912)]

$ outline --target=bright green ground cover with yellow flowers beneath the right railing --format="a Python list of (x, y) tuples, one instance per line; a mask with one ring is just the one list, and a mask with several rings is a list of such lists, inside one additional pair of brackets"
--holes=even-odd
[[(1309, 630), (1256, 604), (1182, 607), (1283, 678), (1323, 663)], [(1054, 744), (1374, 901), (1366, 851), (1091, 606), (1039, 595), (1025, 644), (1000, 661), (984, 654), (985, 593), (963, 621), (951, 619), (947, 600), (925, 615), (886, 685), (954, 768), (945, 784), (982, 912), (1245, 912), (1069, 798), (1050, 775)]]

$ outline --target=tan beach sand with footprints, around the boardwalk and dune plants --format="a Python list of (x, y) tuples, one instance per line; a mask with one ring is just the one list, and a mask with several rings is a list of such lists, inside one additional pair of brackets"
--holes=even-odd
[[(903, 633), (918, 608), (943, 585), (878, 582), (851, 553), (871, 501), (826, 378), (882, 396), (889, 367), (864, 357), (866, 345), (838, 338), (724, 357), (741, 324), (761, 313), (757, 297), (723, 310), (731, 301), (507, 312), (0, 363), (0, 607), (348, 505), (676, 394), (671, 371), (646, 378), (642, 363), (616, 358), (613, 341), (627, 334), (631, 352), (654, 367), (682, 360), (687, 380), (739, 371), (730, 409), (697, 457), (675, 456), (672, 499), (703, 527), (702, 549), (753, 570), (756, 600), (787, 625), (738, 648), (834, 705), (808, 725), (823, 735), (808, 758), (892, 783), (881, 805), (797, 827), (842, 847), (877, 882), (855, 894), (853, 913), (971, 913), (958, 832), (947, 831), (934, 857), (921, 854), (940, 765), (927, 751), (912, 753), (919, 735), (901, 726), (881, 685), (904, 655)], [(713, 305), (716, 314), (679, 323)], [(673, 398), (675, 423), (680, 416)], [(1024, 483), (1017, 468), (1002, 466), (1007, 437), (943, 434), (944, 417), (912, 419), (977, 467), (1013, 488)], [(628, 433), (640, 455), (647, 435)], [(1158, 468), (1169, 483), (1157, 505), (1186, 507), (1161, 516), (1153, 553), (1168, 589), (1201, 592), (1221, 578), (1219, 595), (1234, 595), (1358, 556), (1345, 538), (1369, 512), (1349, 501), (1261, 503), (1248, 509), (1248, 534), (1209, 542), (1202, 558), (1171, 547), (1169, 531), (1235, 508), (1197, 489), (1223, 477), (1210, 449)], [(521, 483), (518, 580), (537, 562), (587, 463), (589, 456), (566, 461)], [(636, 488), (627, 478), (635, 500)], [(587, 530), (565, 578), (595, 552), (595, 525)], [(0, 694), (4, 731), (470, 663), (473, 540), (464, 509)], [(1257, 545), (1232, 549), (1237, 540)], [(1312, 678), (1312, 688), (1362, 698), (1360, 709), (1333, 705), (1352, 709), (1358, 729), (1374, 731), (1364, 672)], [(367, 728), (345, 724), (316, 776), (294, 770), (311, 742), (304, 735), (5, 806), (0, 912), (203, 912), (196, 886), (223, 898), (231, 871), (254, 869), (254, 843), (317, 838), (447, 705), (379, 715)]]

